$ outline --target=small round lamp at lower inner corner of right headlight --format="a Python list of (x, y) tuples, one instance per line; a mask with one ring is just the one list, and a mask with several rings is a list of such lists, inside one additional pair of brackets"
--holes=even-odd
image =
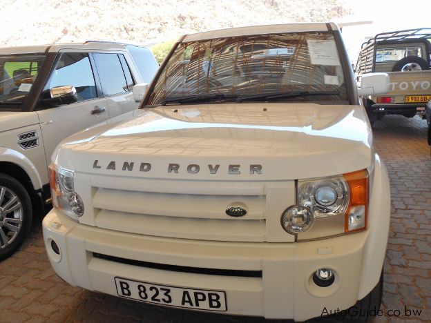
[(281, 226), (294, 235), (307, 231), (313, 224), (313, 213), (305, 206), (291, 206), (281, 215)]

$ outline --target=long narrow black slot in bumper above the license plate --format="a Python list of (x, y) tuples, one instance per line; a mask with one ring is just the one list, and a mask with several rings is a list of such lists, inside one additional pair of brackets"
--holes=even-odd
[(236, 276), (236, 277), (262, 277), (262, 271), (238, 271), (232, 269), (215, 269), (215, 268), (200, 268), (176, 266), (169, 264), (156, 264), (154, 262), (142, 262), (140, 260), (131, 260), (126, 258), (103, 255), (102, 253), (93, 253), (93, 257), (110, 262), (119, 262), (120, 264), (128, 264), (145, 268), (160, 269), (162, 271), (177, 271), (180, 273), (197, 273), (203, 275), (218, 275), (218, 276)]

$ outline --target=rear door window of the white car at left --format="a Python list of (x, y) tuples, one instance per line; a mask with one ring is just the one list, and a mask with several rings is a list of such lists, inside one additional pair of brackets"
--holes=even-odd
[(128, 92), (128, 85), (117, 54), (93, 54), (104, 95)]

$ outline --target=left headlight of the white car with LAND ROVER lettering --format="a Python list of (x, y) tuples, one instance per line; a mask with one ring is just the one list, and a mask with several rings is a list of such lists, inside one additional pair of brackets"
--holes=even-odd
[(77, 220), (84, 214), (84, 202), (75, 192), (73, 171), (51, 164), (49, 166), (52, 206)]

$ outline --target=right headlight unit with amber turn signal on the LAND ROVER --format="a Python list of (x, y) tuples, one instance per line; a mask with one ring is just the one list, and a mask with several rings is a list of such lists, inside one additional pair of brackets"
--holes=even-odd
[(282, 227), (298, 240), (365, 230), (369, 194), (367, 170), (298, 180), (297, 205), (282, 213)]

